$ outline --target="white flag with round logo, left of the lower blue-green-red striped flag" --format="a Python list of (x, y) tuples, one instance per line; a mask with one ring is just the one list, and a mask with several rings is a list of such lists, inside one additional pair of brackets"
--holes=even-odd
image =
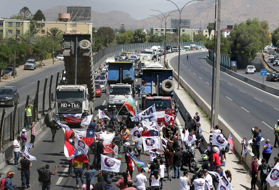
[(101, 154), (101, 170), (119, 172), (121, 160)]

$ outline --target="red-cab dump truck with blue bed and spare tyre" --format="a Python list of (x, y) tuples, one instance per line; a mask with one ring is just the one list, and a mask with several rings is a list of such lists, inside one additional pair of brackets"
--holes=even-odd
[[(155, 104), (156, 111), (164, 111), (165, 114), (173, 116), (173, 94), (175, 84), (172, 77), (172, 69), (143, 69), (141, 80), (141, 110)], [(165, 118), (157, 118), (158, 122), (165, 121)], [(174, 123), (174, 120), (170, 120)]]

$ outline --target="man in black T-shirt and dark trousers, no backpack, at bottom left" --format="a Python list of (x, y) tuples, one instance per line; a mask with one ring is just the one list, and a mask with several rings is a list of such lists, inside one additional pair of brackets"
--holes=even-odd
[(24, 157), (24, 159), (20, 160), (21, 165), (21, 188), (29, 188), (30, 187), (30, 167), (32, 167), (32, 162)]

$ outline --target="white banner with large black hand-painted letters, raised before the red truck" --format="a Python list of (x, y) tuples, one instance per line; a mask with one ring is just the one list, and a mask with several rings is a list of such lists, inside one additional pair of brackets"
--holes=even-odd
[(151, 121), (157, 121), (156, 109), (155, 104), (147, 108), (146, 110), (140, 112), (139, 114), (131, 117), (132, 121), (147, 123)]

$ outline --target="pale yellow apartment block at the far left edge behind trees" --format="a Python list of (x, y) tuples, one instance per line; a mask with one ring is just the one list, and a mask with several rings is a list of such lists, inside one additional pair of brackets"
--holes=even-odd
[[(0, 19), (0, 34), (3, 34), (3, 39), (12, 37), (16, 33), (23, 35), (29, 32), (29, 26), (29, 20)], [(20, 41), (20, 38), (18, 37), (17, 40)]]

